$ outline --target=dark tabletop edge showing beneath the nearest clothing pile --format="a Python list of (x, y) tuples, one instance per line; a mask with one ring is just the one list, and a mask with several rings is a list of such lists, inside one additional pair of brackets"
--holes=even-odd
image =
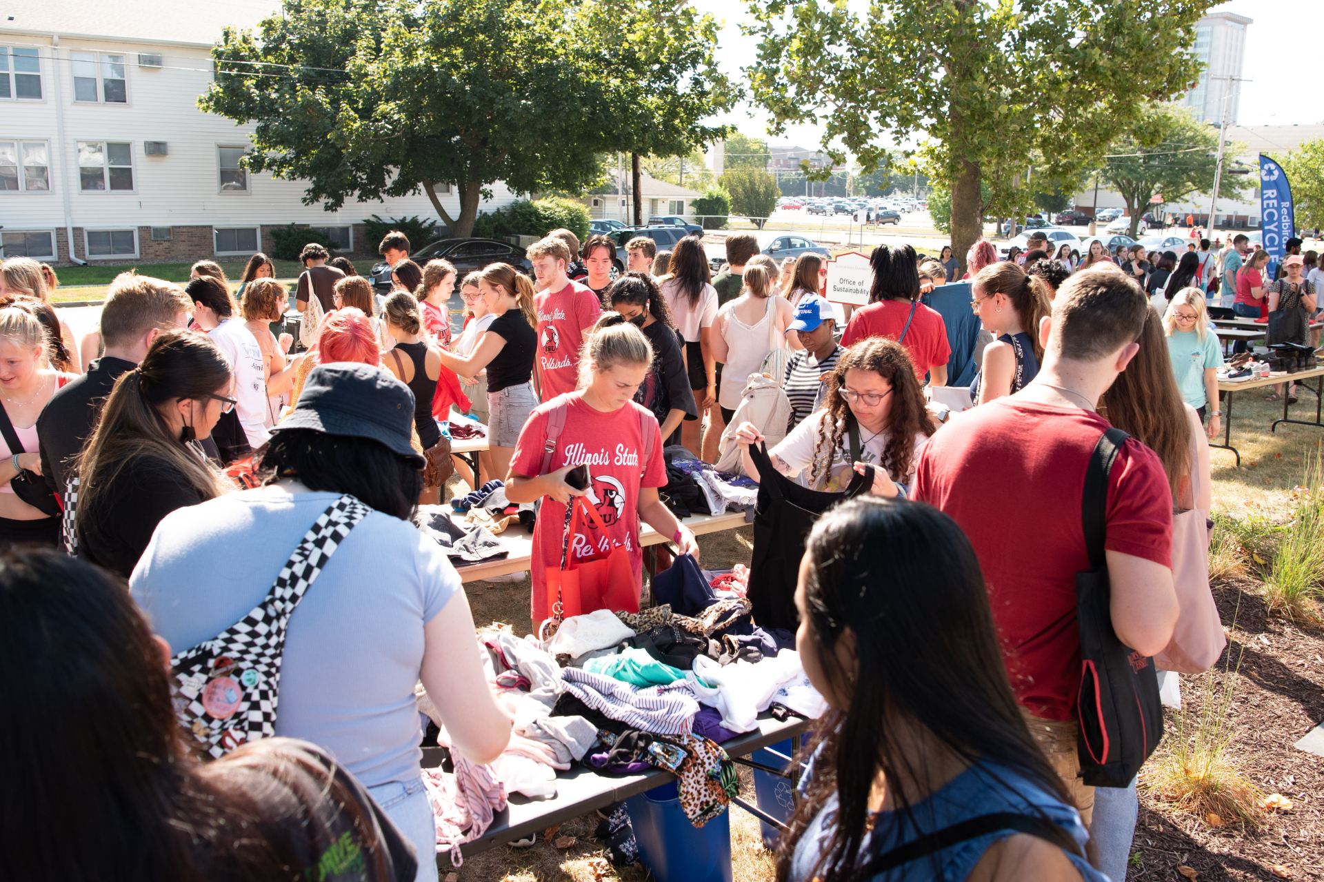
[[(724, 743), (722, 747), (732, 759), (748, 756), (769, 744), (784, 742), (789, 738), (802, 735), (813, 724), (813, 720), (786, 718), (785, 722), (775, 719), (769, 714), (759, 718), (759, 728), (740, 735)], [(441, 765), (442, 750), (440, 747), (422, 748), (422, 767), (434, 768)], [(498, 812), (491, 826), (479, 838), (459, 846), (459, 853), (471, 857), (522, 840), (530, 834), (542, 833), (547, 828), (587, 814), (593, 809), (606, 808), (622, 803), (626, 799), (651, 791), (675, 780), (675, 776), (662, 769), (650, 769), (638, 775), (604, 775), (592, 768), (576, 765), (560, 772), (556, 776), (556, 796), (548, 800), (531, 800), (524, 796), (512, 796), (504, 810)], [(450, 870), (450, 854), (437, 856), (437, 866), (442, 875)]]

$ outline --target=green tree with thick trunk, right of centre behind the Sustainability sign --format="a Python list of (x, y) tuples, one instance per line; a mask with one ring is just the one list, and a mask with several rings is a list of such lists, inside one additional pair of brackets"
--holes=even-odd
[[(824, 150), (865, 171), (886, 144), (922, 140), (952, 193), (952, 246), (980, 234), (993, 204), (1021, 211), (1098, 163), (1141, 110), (1190, 86), (1182, 46), (1211, 0), (748, 0), (759, 54), (747, 70), (772, 134), (822, 117)], [(1177, 49), (1174, 50), (1174, 46)], [(839, 147), (838, 147), (839, 146)], [(1021, 184), (1016, 184), (1019, 175)]]

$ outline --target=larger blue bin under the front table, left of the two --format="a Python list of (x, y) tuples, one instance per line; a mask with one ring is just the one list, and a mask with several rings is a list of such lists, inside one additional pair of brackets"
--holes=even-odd
[(639, 859), (657, 882), (731, 882), (731, 813), (700, 828), (681, 809), (675, 781), (625, 801)]

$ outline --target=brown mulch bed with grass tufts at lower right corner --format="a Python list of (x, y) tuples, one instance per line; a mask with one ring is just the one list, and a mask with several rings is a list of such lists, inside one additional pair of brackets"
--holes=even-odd
[[(1192, 878), (1178, 873), (1184, 866), (1198, 879), (1324, 879), (1324, 758), (1294, 747), (1324, 720), (1324, 629), (1270, 616), (1251, 579), (1213, 588), (1223, 622), (1237, 625), (1214, 673), (1215, 690), (1229, 677), (1223, 673), (1229, 654), (1234, 671), (1241, 658), (1229, 710), (1230, 754), (1266, 795), (1282, 793), (1295, 805), (1271, 814), (1259, 830), (1211, 828), (1141, 788), (1127, 878)], [(1181, 689), (1182, 707), (1198, 712), (1205, 677), (1182, 677)], [(1168, 738), (1176, 731), (1169, 710)]]

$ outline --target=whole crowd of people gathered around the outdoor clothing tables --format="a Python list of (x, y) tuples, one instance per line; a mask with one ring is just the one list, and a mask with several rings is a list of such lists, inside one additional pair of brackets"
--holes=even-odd
[[(477, 489), (444, 436), (469, 415), (487, 433), (479, 473), (512, 506), (538, 503), (543, 637), (576, 565), (605, 573), (576, 587), (577, 612), (639, 611), (643, 524), (699, 558), (661, 494), (675, 445), (841, 499), (780, 550), (798, 572), (773, 600), (829, 710), (779, 878), (937, 863), (944, 878), (1124, 878), (1135, 783), (1086, 785), (1078, 752), (1087, 465), (1110, 426), (1127, 433), (1107, 477), (1111, 626), (1140, 656), (1170, 653), (1189, 614), (1176, 585), (1200, 585), (1202, 565), (1174, 554), (1177, 515), (1204, 523), (1201, 436), (1218, 430), (1206, 303), (1222, 289), (1239, 315), (1313, 313), (1319, 268), (1294, 254), (1266, 282), (1243, 236), (1180, 260), (1035, 244), (1000, 261), (981, 240), (964, 275), (949, 248), (879, 246), (870, 302), (843, 309), (820, 256), (777, 264), (745, 234), (715, 277), (698, 236), (670, 254), (633, 238), (617, 269), (612, 240), (561, 229), (527, 249), (532, 277), (494, 264), (459, 278), (444, 260), (418, 266), (392, 232), (384, 297), (350, 261), (303, 249), (305, 351), (263, 254), (237, 294), (211, 261), (184, 286), (124, 273), (81, 342), (46, 302), (46, 271), (5, 261), (0, 658), (23, 683), (7, 730), (25, 736), (4, 768), (40, 795), (0, 833), (5, 853), (21, 840), (24, 878), (293, 878), (350, 842), (356, 878), (436, 878), (416, 685), (467, 760), (511, 734), (459, 575), (413, 522), (453, 470)], [(969, 351), (925, 302), (959, 277), (980, 328)], [(960, 359), (976, 372), (956, 413), (936, 389)], [(323, 548), (315, 531), (342, 515), (347, 535)], [(316, 588), (286, 608), (273, 650), (274, 734), (299, 740), (199, 764), (184, 746), (205, 732), (176, 723), (162, 673), (279, 607), (308, 543), (322, 554), (302, 591)], [(212, 716), (222, 681), (236, 682), (220, 671), (197, 699)], [(940, 836), (989, 812), (1031, 821)], [(922, 857), (875, 869), (910, 850)]]

